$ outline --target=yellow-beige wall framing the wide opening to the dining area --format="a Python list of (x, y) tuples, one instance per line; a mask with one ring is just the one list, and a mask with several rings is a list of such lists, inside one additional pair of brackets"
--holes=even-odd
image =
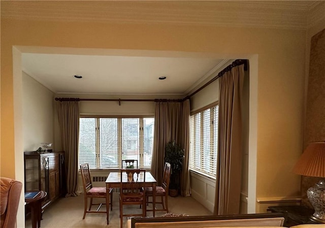
[[(1, 21), (1, 174), (15, 174), (14, 131), (21, 75), (13, 74), (12, 46), (114, 48), (206, 52), (223, 58), (255, 60), (250, 74), (250, 113), (255, 121), (257, 197), (296, 196), (300, 178), (291, 169), (302, 151), (305, 80), (303, 30), (164, 24)], [(145, 31), (145, 32), (144, 32)], [(186, 39), (185, 39), (186, 38)], [(19, 51), (18, 51), (19, 52)], [(17, 53), (19, 57), (19, 53)], [(17, 61), (19, 62), (19, 61)], [(21, 72), (21, 71), (20, 71)], [(21, 73), (20, 73), (21, 74)], [(252, 78), (250, 78), (252, 81)], [(16, 83), (17, 82), (17, 83)], [(252, 93), (251, 93), (252, 95)], [(21, 104), (20, 104), (21, 105)], [(16, 109), (17, 110), (17, 109)], [(19, 129), (19, 121), (16, 129)], [(252, 130), (252, 129), (250, 129)], [(15, 151), (15, 152), (14, 152)], [(253, 159), (254, 160), (254, 159)]]

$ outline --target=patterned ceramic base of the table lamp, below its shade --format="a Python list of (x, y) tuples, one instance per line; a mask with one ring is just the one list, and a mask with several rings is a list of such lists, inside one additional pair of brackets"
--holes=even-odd
[(310, 187), (307, 190), (307, 196), (315, 209), (315, 213), (310, 219), (318, 223), (325, 223), (325, 179)]

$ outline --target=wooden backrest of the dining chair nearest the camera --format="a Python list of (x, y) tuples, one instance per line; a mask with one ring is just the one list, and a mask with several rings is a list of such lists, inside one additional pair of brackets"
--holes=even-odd
[[(121, 169), (120, 194), (138, 194), (140, 192), (139, 178), (140, 173), (143, 173), (143, 180), (146, 180), (146, 171), (144, 169)], [(127, 176), (127, 182), (123, 182), (124, 176)]]

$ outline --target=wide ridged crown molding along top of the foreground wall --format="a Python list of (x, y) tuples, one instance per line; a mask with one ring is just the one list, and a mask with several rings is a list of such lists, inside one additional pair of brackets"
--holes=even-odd
[(306, 29), (310, 9), (323, 3), (324, 1), (1, 1), (1, 17), (66, 22)]

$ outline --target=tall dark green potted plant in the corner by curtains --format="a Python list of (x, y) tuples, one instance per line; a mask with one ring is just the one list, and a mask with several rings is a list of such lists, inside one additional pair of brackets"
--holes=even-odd
[(166, 144), (165, 162), (171, 164), (171, 177), (169, 184), (169, 194), (171, 197), (177, 197), (179, 190), (180, 173), (183, 169), (184, 149), (175, 141)]

